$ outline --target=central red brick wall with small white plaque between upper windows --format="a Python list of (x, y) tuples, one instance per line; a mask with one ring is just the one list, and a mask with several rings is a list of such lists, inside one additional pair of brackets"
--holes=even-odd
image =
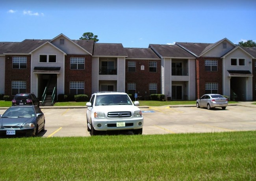
[[(136, 72), (128, 72), (128, 61), (136, 62)], [(149, 72), (149, 62), (157, 62), (157, 72)], [(144, 70), (141, 70), (144, 65)], [(136, 83), (138, 96), (149, 96), (149, 83), (157, 83), (157, 93), (161, 93), (161, 61), (160, 60), (134, 60), (126, 59), (125, 62), (125, 91), (128, 92), (128, 83)], [(147, 93), (145, 93), (147, 92)]]

